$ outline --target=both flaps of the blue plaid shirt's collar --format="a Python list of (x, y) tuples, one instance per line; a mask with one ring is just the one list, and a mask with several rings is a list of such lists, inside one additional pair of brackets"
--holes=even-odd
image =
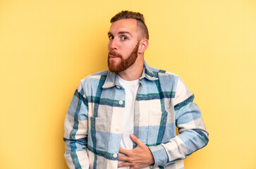
[[(147, 78), (147, 80), (158, 80), (158, 77), (155, 75), (155, 73), (152, 72), (152, 69), (149, 65), (147, 65), (146, 61), (144, 61), (144, 69), (139, 80), (142, 80), (144, 77)], [(106, 80), (102, 85), (102, 89), (107, 89), (114, 86), (121, 87), (117, 79), (117, 74), (108, 71)]]

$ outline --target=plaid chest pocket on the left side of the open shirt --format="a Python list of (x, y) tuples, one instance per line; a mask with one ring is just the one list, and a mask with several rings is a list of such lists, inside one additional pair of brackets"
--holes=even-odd
[(109, 119), (90, 117), (90, 136), (92, 140), (93, 149), (103, 151), (107, 149), (107, 142), (109, 139)]

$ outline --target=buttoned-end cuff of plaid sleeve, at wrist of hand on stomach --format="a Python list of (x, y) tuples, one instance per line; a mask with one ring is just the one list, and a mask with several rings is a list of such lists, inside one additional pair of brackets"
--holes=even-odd
[(149, 148), (154, 157), (154, 166), (150, 166), (150, 168), (157, 168), (157, 166), (159, 165), (166, 165), (166, 163), (168, 162), (168, 155), (166, 153), (166, 150), (164, 149), (164, 146), (149, 146)]

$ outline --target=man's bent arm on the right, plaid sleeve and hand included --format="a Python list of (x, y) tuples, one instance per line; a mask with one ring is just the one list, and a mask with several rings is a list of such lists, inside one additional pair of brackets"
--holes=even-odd
[(184, 159), (194, 151), (206, 146), (208, 132), (202, 121), (200, 109), (193, 103), (193, 99), (194, 95), (188, 90), (183, 81), (178, 79), (173, 105), (176, 126), (181, 134), (170, 139), (166, 144), (150, 147), (140, 142), (137, 137), (131, 137), (133, 142), (140, 146), (132, 150), (120, 148), (119, 152), (126, 154), (126, 156), (118, 156), (118, 160), (126, 162), (119, 164), (118, 167), (141, 168), (154, 163), (152, 168), (156, 168), (159, 165), (164, 166)]

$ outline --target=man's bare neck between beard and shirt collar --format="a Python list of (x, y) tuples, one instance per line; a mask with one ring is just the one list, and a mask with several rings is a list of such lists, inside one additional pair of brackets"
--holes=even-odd
[(144, 58), (138, 58), (133, 65), (131, 65), (126, 70), (123, 70), (123, 72), (118, 73), (119, 77), (121, 77), (123, 80), (138, 80), (143, 72), (144, 69)]

